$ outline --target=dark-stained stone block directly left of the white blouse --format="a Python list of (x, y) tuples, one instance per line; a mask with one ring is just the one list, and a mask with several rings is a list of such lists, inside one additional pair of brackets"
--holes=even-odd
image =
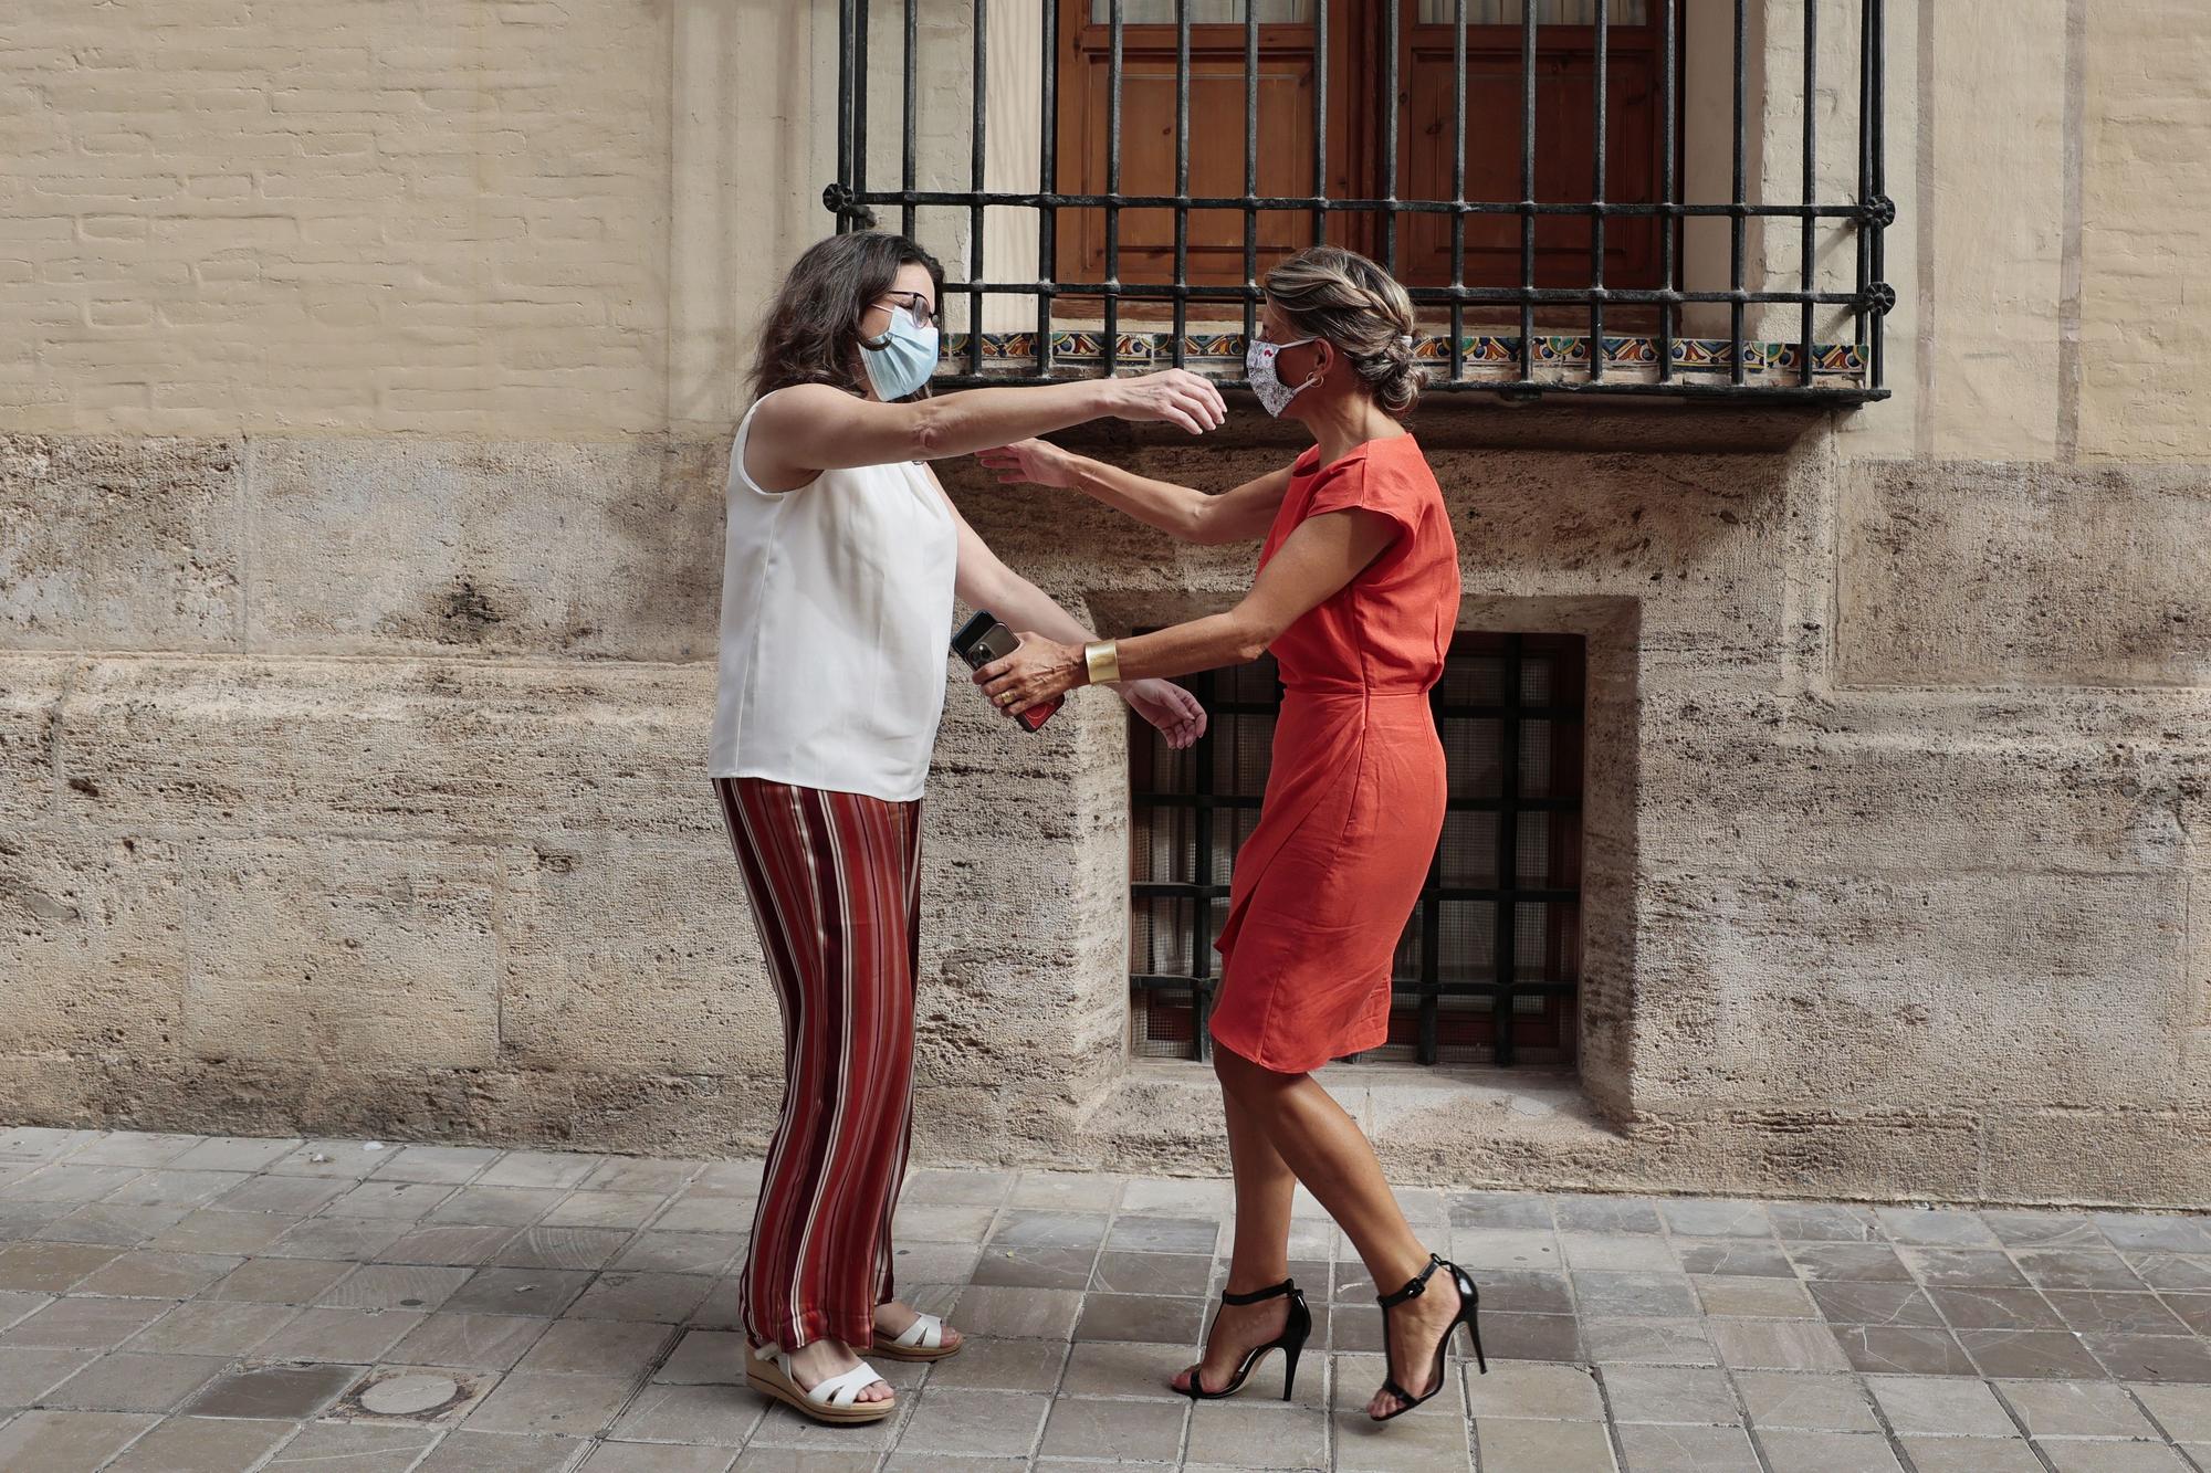
[(270, 652), (710, 659), (727, 447), (256, 440)]

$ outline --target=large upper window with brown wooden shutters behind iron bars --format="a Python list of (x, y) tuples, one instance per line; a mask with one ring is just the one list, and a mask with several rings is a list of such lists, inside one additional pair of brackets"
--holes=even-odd
[(1886, 398), (1882, 0), (840, 0), (840, 40), (825, 201), (946, 254), (951, 387), (1240, 385), (1265, 270), (1333, 241), (1435, 389)]

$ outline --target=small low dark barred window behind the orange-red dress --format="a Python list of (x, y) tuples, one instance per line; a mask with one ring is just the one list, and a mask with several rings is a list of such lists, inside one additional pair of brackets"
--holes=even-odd
[[(1271, 659), (1185, 681), (1212, 712), (1174, 752), (1130, 721), (1130, 1017), (1139, 1057), (1203, 1059), (1236, 852), (1258, 823), (1282, 692)], [(1431, 694), (1444, 834), (1364, 1059), (1574, 1062), (1581, 975), (1583, 641), (1453, 639)]]

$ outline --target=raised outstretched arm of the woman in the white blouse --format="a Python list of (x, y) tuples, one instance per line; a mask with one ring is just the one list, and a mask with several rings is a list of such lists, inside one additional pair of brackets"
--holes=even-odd
[(1183, 369), (1021, 389), (962, 389), (900, 405), (860, 398), (825, 383), (800, 383), (761, 400), (745, 473), (769, 491), (787, 491), (818, 471), (968, 456), (1097, 418), (1165, 420), (1203, 433), (1227, 418), (1227, 405), (1209, 378)]

